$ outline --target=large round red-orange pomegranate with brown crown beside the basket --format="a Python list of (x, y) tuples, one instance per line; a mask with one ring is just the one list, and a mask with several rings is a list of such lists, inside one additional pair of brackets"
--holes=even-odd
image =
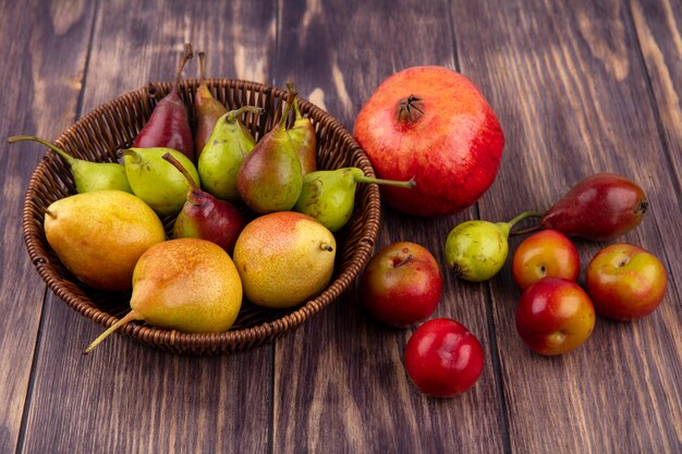
[(382, 200), (411, 214), (452, 214), (492, 184), (504, 147), (500, 123), (476, 85), (442, 66), (415, 66), (383, 81), (361, 109), (353, 135), (377, 176), (414, 177), (382, 187)]

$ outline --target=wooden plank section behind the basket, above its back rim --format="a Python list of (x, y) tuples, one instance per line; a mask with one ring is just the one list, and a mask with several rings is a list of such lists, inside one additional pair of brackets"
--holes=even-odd
[(185, 78), (199, 76), (196, 52), (205, 51), (207, 77), (268, 83), (275, 30), (271, 2), (102, 2), (84, 112), (151, 81), (172, 81), (185, 42), (195, 51)]

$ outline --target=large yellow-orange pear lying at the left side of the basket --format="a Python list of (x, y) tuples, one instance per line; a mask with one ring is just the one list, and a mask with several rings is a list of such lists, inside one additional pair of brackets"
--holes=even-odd
[(130, 290), (139, 256), (166, 240), (156, 213), (122, 191), (61, 198), (47, 208), (44, 226), (50, 247), (74, 277), (111, 292)]

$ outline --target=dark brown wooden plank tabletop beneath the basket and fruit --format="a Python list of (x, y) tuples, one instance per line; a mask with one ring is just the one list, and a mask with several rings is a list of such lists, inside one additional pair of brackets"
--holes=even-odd
[[(655, 253), (670, 277), (651, 316), (598, 319), (582, 348), (545, 358), (515, 333), (509, 263), (483, 284), (449, 275), (435, 316), (460, 320), (486, 352), (479, 382), (451, 400), (415, 391), (402, 365), (412, 330), (368, 319), (355, 289), (248, 352), (179, 357), (113, 336), (83, 357), (101, 327), (47, 291), (21, 234), (44, 149), (4, 146), (0, 453), (682, 452), (680, 17), (679, 0), (0, 0), (2, 138), (53, 139), (100, 103), (169, 79), (185, 41), (207, 52), (209, 76), (293, 79), (349, 130), (385, 77), (444, 65), (498, 113), (499, 175), (456, 216), (385, 208), (378, 246), (413, 241), (444, 267), (456, 223), (545, 209), (579, 179), (613, 171), (650, 200), (619, 241)], [(604, 247), (577, 245), (583, 270)]]

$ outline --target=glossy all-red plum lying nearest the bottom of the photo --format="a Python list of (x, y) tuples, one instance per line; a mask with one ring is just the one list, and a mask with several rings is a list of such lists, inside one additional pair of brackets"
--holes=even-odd
[(470, 390), (480, 377), (480, 342), (462, 323), (436, 318), (422, 324), (405, 346), (405, 369), (414, 385), (434, 397)]

